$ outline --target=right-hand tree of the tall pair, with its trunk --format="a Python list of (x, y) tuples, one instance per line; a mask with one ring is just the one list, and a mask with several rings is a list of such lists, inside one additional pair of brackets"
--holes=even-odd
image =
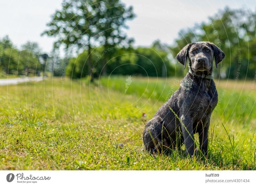
[(120, 43), (131, 44), (132, 39), (128, 39), (122, 30), (123, 28), (128, 28), (124, 24), (126, 20), (133, 19), (134, 13), (132, 6), (126, 8), (120, 0), (112, 1), (100, 1), (99, 2), (99, 23), (97, 28), (99, 29), (99, 34), (97, 37), (100, 43), (104, 46), (103, 50), (108, 50), (107, 55), (103, 56), (103, 69), (102, 74), (107, 74), (106, 62), (113, 56), (116, 45)]

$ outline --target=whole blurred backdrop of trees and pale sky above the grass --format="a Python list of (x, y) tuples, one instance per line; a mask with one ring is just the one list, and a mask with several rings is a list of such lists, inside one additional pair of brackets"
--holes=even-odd
[(186, 71), (176, 54), (187, 43), (210, 41), (226, 54), (215, 78), (253, 78), (254, 4), (1, 1), (0, 77), (182, 77)]

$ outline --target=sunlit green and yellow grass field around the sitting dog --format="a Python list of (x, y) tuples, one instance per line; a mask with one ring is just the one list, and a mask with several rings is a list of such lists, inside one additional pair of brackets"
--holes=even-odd
[(176, 151), (153, 157), (141, 150), (144, 122), (180, 79), (132, 77), (125, 92), (126, 78), (1, 86), (0, 169), (256, 170), (254, 82), (215, 79), (219, 103), (209, 130), (209, 160), (198, 161)]

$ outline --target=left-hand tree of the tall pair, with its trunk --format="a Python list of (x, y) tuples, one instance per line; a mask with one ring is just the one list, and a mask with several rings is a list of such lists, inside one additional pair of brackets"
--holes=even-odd
[(57, 10), (53, 16), (52, 21), (47, 24), (49, 30), (44, 31), (43, 34), (48, 36), (55, 36), (57, 41), (54, 43), (54, 48), (59, 48), (61, 44), (68, 48), (87, 47), (88, 50), (88, 74), (91, 70), (91, 38), (96, 34), (96, 24), (98, 18), (96, 16), (96, 4), (92, 0), (64, 0), (62, 3), (62, 10)]

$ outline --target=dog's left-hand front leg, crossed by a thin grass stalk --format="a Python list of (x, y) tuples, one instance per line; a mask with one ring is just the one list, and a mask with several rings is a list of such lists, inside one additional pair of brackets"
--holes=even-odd
[(186, 152), (190, 156), (196, 154), (196, 144), (193, 133), (193, 124), (191, 118), (182, 115), (180, 117), (181, 120), (181, 130), (184, 138), (184, 144), (186, 147)]

